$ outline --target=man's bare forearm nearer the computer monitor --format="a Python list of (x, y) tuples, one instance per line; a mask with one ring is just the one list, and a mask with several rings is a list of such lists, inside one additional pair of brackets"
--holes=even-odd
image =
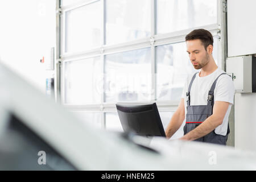
[(185, 119), (185, 108), (184, 108), (184, 98), (181, 98), (180, 104), (177, 110), (172, 115), (171, 121), (168, 123), (166, 129), (166, 137), (171, 138), (172, 135), (180, 128)]

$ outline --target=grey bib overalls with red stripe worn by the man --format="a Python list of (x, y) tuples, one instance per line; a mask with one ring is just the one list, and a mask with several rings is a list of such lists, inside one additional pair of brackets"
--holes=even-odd
[[(188, 92), (187, 92), (187, 114), (186, 114), (186, 123), (184, 126), (184, 135), (187, 134), (189, 131), (195, 129), (197, 126), (200, 125), (200, 123), (204, 122), (205, 119), (207, 119), (210, 115), (212, 115), (213, 111), (213, 105), (214, 105), (214, 94), (213, 91), (216, 86), (216, 82), (218, 80), (218, 77), (221, 75), (224, 75), (226, 73), (221, 73), (216, 80), (213, 82), (212, 87), (210, 88), (208, 92), (208, 100), (207, 105), (196, 105), (191, 106), (190, 105), (190, 90), (193, 81), (195, 80), (196, 74), (192, 77), (192, 80), (188, 86)], [(211, 131), (209, 134), (205, 135), (204, 137), (201, 137), (199, 139), (196, 139), (195, 141), (200, 142), (208, 142), (208, 143), (216, 143), (216, 144), (226, 144), (226, 140), (228, 140), (228, 134), (229, 134), (229, 125), (228, 125), (228, 132), (225, 136), (218, 135), (215, 133), (215, 130)]]

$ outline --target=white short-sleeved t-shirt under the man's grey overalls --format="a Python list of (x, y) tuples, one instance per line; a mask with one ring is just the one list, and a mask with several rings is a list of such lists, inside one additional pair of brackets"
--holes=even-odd
[[(221, 73), (225, 73), (225, 72), (222, 69), (217, 68), (213, 73), (210, 73), (210, 75), (207, 75), (204, 77), (199, 77), (199, 73), (196, 74), (195, 80), (193, 81), (193, 84), (191, 86), (191, 91), (190, 91), (190, 98), (191, 98), (190, 105), (207, 105), (208, 92), (210, 90), (210, 87), (212, 86), (216, 78), (219, 75), (221, 75)], [(187, 114), (186, 93), (188, 92), (188, 86), (194, 74), (195, 73), (187, 77), (187, 80), (185, 81), (185, 85), (183, 88), (182, 98), (184, 98), (185, 115)], [(214, 89), (214, 101), (229, 102), (229, 107), (228, 107), (228, 110), (226, 111), (222, 124), (216, 127), (215, 129), (216, 134), (225, 136), (228, 131), (228, 119), (229, 119), (230, 109), (232, 107), (232, 104), (234, 104), (234, 92), (235, 92), (234, 83), (230, 76), (225, 74), (218, 77), (218, 80), (216, 82), (216, 87)]]

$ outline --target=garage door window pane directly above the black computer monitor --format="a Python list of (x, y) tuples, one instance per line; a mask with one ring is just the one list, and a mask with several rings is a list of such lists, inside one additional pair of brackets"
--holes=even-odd
[(105, 56), (105, 102), (151, 99), (150, 48)]

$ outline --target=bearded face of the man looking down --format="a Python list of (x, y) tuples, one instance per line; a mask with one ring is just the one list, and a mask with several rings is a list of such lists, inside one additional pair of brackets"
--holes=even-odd
[(195, 69), (201, 69), (209, 63), (209, 54), (200, 39), (188, 40), (186, 43), (189, 59)]

